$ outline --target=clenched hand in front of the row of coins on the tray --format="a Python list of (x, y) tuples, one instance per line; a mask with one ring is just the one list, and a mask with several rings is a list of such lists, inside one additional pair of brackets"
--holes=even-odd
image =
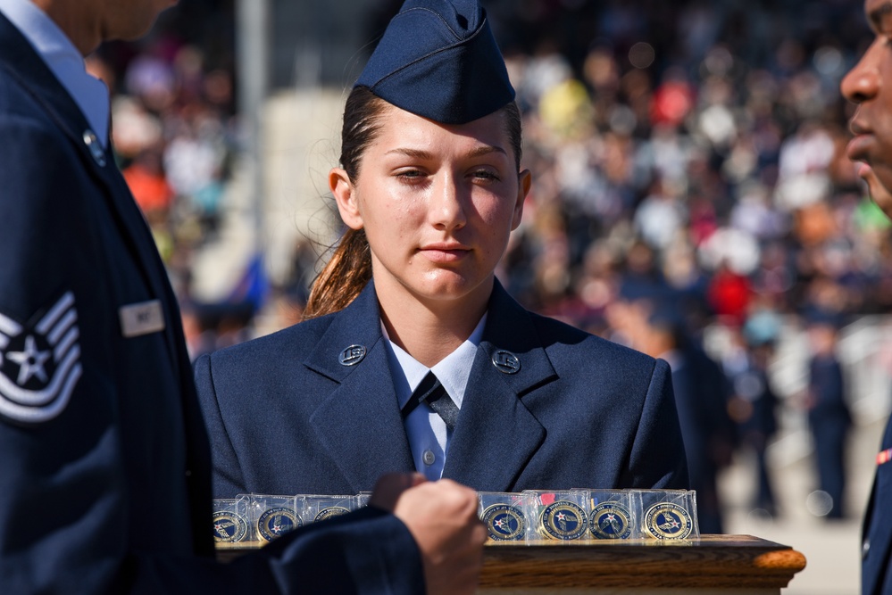
[(399, 496), (394, 514), (421, 550), (428, 595), (477, 590), (487, 531), (476, 492), (449, 479), (418, 483)]

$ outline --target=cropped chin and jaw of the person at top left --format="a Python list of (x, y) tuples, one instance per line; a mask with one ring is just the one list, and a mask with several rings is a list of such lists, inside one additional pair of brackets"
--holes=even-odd
[(33, 0), (83, 55), (110, 39), (136, 39), (177, 0)]

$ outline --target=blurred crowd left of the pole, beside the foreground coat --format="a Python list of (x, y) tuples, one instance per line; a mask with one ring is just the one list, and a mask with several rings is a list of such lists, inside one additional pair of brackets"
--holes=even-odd
[(138, 42), (87, 59), (111, 95), (112, 141), (180, 301), (194, 252), (213, 240), (238, 154), (232, 7), (189, 0)]

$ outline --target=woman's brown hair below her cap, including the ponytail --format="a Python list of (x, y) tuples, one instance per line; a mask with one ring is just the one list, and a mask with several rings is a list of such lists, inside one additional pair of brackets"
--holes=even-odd
[[(369, 87), (354, 87), (344, 106), (341, 128), (341, 167), (351, 181), (359, 176), (363, 153), (380, 130), (381, 114), (389, 103), (371, 93)], [(502, 108), (505, 131), (521, 169), (521, 111), (514, 102)], [(371, 250), (363, 229), (347, 229), (331, 259), (313, 282), (304, 308), (304, 320), (343, 310), (363, 291), (371, 279)]]

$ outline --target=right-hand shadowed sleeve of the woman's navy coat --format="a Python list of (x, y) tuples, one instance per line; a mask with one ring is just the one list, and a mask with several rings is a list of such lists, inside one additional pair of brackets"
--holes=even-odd
[(651, 376), (638, 432), (629, 458), (631, 482), (643, 488), (687, 490), (688, 461), (681, 437), (679, 414), (672, 392), (669, 364), (657, 359)]

